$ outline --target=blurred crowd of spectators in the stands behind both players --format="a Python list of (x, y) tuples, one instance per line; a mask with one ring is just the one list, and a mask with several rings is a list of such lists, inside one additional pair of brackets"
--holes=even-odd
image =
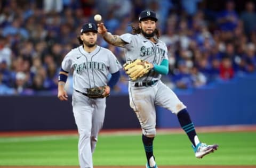
[[(169, 50), (172, 89), (189, 89), (255, 72), (254, 1), (237, 12), (236, 1), (219, 10), (206, 0), (2, 0), (0, 2), (0, 95), (56, 95), (63, 57), (79, 45), (82, 24), (101, 14), (108, 31), (131, 32), (142, 10), (157, 13), (160, 39)], [(124, 51), (98, 36), (123, 64)], [(66, 89), (72, 93), (72, 77)], [(112, 90), (127, 94), (127, 75)]]

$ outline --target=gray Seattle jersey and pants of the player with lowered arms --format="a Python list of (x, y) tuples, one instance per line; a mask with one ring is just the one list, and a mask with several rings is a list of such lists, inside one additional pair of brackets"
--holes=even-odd
[[(91, 53), (87, 53), (83, 46), (72, 49), (61, 66), (67, 72), (74, 69), (73, 88), (82, 93), (86, 93), (86, 88), (106, 86), (109, 73), (115, 73), (122, 68), (114, 54), (100, 46)], [(91, 99), (82, 93), (74, 91), (72, 96), (73, 113), (79, 133), (78, 158), (81, 168), (92, 168), (92, 153), (103, 125), (106, 98)]]

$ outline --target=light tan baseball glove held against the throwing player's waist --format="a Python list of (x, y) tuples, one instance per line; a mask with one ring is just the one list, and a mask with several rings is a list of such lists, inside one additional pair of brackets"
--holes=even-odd
[(137, 80), (143, 75), (147, 74), (151, 69), (151, 64), (145, 60), (135, 60), (131, 63), (125, 63), (123, 68), (131, 80)]

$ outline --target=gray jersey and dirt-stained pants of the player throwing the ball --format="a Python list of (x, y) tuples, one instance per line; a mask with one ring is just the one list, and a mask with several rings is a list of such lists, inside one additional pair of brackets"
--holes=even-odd
[[(167, 57), (167, 47), (161, 40), (156, 39), (157, 43), (153, 43), (142, 35), (131, 35), (125, 33), (120, 38), (124, 40), (126, 45), (125, 57), (126, 62), (135, 59), (146, 60), (153, 64), (161, 64)], [(136, 81), (129, 82), (129, 99), (130, 106), (137, 114), (140, 121), (143, 135), (155, 136), (156, 133), (156, 109), (155, 105), (162, 106), (178, 114), (180, 110), (186, 106), (179, 100), (177, 95), (160, 80), (161, 74), (151, 71), (145, 77)], [(143, 81), (156, 81), (151, 86), (136, 86), (136, 83)]]

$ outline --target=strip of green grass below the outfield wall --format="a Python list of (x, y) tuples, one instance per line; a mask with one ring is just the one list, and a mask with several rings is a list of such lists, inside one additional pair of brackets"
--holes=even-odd
[[(219, 150), (197, 159), (185, 134), (157, 135), (154, 155), (158, 165), (256, 165), (256, 132), (199, 133)], [(0, 138), (0, 165), (78, 165), (76, 136)], [(144, 165), (140, 135), (101, 135), (94, 165)]]

